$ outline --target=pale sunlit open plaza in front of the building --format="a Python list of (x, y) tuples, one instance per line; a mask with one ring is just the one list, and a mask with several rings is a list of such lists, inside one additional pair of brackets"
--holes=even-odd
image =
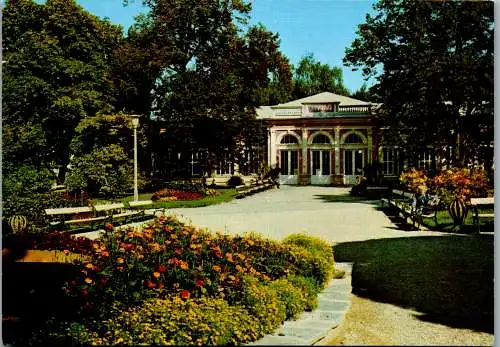
[(195, 226), (231, 234), (256, 231), (282, 239), (305, 232), (332, 243), (383, 237), (438, 235), (399, 230), (380, 210), (379, 201), (349, 196), (350, 188), (281, 186), (244, 199), (200, 208), (167, 211)]

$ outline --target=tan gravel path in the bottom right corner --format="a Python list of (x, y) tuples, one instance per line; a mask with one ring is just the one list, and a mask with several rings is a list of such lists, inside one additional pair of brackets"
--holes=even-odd
[(418, 319), (418, 313), (353, 295), (334, 337), (322, 345), (493, 346), (493, 334)]

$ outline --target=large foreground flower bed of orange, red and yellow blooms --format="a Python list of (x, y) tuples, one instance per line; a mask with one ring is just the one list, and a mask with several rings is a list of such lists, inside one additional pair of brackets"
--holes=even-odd
[[(63, 248), (74, 247), (59, 237)], [(54, 249), (54, 239), (40, 244)], [(174, 217), (75, 242), (90, 254), (63, 286), (75, 315), (45, 324), (33, 342), (246, 343), (313, 309), (333, 273), (333, 252), (322, 240), (231, 237)]]

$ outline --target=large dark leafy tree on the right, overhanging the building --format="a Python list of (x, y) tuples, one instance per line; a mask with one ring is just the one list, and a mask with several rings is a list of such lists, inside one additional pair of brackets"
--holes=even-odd
[(490, 156), (493, 2), (380, 0), (374, 9), (344, 62), (377, 79), (386, 139), (410, 151), (453, 146), (459, 165)]

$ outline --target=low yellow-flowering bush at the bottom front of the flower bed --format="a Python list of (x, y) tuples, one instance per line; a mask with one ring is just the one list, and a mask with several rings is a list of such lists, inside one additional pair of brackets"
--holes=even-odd
[(114, 307), (100, 336), (73, 325), (66, 334), (92, 345), (235, 345), (261, 337), (259, 321), (238, 306), (216, 298), (152, 299), (133, 308)]

